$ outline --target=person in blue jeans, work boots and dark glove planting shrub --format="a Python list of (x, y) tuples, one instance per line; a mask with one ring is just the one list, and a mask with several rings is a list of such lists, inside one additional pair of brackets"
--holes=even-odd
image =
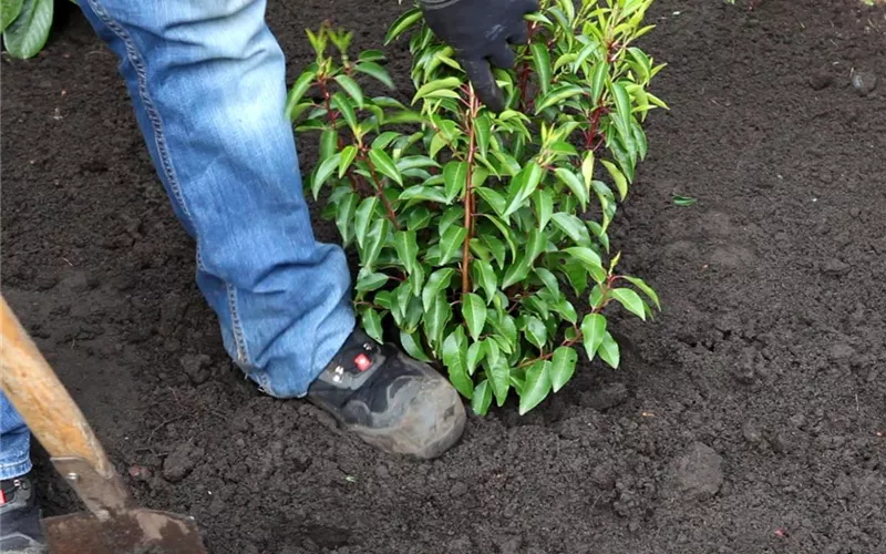
[[(429, 366), (356, 325), (342, 249), (313, 235), (285, 64), (266, 0), (80, 0), (120, 59), (138, 126), (176, 217), (196, 243), (197, 285), (225, 349), (265, 393), (306, 398), (384, 452), (439, 456), (465, 409)], [(513, 64), (537, 0), (420, 0), (483, 102)], [(44, 552), (30, 433), (0, 394), (0, 553)]]

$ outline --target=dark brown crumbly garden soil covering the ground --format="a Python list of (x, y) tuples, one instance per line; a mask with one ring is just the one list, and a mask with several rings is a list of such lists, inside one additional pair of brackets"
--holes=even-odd
[[(289, 79), (324, 17), (378, 45), (401, 8), (370, 3), (272, 2)], [(584, 367), (525, 418), (472, 418), (433, 462), (231, 366), (115, 60), (76, 12), (39, 58), (3, 59), (2, 291), (137, 501), (194, 515), (216, 554), (886, 552), (883, 8), (660, 0), (650, 20), (671, 110), (649, 120), (614, 242), (664, 310), (614, 320), (620, 370)], [(408, 82), (404, 48), (388, 53)], [(48, 513), (78, 510), (35, 459)]]

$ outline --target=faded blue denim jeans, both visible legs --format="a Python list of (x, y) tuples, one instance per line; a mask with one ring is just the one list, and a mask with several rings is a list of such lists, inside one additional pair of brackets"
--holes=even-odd
[[(266, 393), (303, 397), (354, 317), (344, 253), (311, 228), (265, 0), (79, 3), (120, 58), (226, 350)], [(28, 440), (0, 394), (0, 479), (30, 470)]]

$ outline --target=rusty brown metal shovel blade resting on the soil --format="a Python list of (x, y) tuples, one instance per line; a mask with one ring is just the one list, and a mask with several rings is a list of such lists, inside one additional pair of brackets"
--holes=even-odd
[(81, 512), (47, 517), (43, 527), (51, 554), (208, 554), (194, 520), (169, 512)]

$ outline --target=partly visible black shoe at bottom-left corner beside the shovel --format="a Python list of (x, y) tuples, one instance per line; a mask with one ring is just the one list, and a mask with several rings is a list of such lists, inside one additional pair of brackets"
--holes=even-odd
[(40, 509), (28, 476), (0, 481), (0, 554), (45, 554)]

